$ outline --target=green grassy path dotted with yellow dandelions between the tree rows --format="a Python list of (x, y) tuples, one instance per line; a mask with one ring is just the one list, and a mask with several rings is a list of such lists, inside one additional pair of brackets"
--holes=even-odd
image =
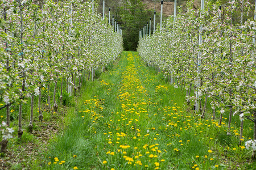
[(90, 88), (44, 169), (229, 169), (246, 160), (245, 149), (221, 143), (236, 140), (221, 137), (225, 123), (185, 112), (184, 95), (135, 52)]

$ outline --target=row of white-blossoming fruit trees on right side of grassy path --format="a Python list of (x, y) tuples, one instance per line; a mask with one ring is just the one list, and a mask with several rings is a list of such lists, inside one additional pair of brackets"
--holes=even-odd
[[(218, 3), (206, 1), (205, 10), (199, 11), (188, 3), (187, 12), (178, 14), (175, 23), (172, 17), (168, 18), (162, 30), (141, 39), (138, 46), (148, 65), (158, 66), (171, 74), (172, 79), (184, 83), (189, 91), (188, 101), (200, 102), (203, 96), (207, 101), (210, 97), (213, 119), (217, 109), (221, 113), (220, 124), (225, 112), (229, 112), (228, 128), (231, 117), (240, 116), (241, 141), (245, 118), (256, 124), (256, 23), (253, 19), (243, 20), (251, 6), (249, 1), (228, 1), (220, 8)], [(241, 13), (240, 24), (233, 24), (237, 11)], [(201, 32), (200, 25), (203, 25)], [(198, 45), (200, 33), (203, 43)], [(188, 95), (192, 84), (199, 98)], [(204, 114), (200, 116), (205, 117)], [(254, 141), (247, 142), (254, 143), (254, 159), (255, 133), (256, 126)]]

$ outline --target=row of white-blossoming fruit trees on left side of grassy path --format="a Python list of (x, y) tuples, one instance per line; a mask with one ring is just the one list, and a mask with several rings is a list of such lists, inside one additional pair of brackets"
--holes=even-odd
[[(82, 77), (89, 71), (103, 68), (122, 52), (122, 36), (100, 14), (94, 4), (76, 1), (0, 1), (0, 109), (6, 109), (6, 124), (2, 125), (2, 151), (13, 130), (10, 113), (19, 105), (18, 138), (22, 137), (22, 111), (31, 100), (29, 129), (32, 129), (35, 96), (39, 96), (39, 120), (43, 121), (42, 90), (48, 92), (55, 84), (53, 108), (57, 112), (56, 88), (63, 82), (67, 91), (76, 93)], [(82, 76), (82, 74), (84, 74)], [(79, 79), (79, 83), (76, 83)], [(61, 102), (60, 102), (61, 104)]]

